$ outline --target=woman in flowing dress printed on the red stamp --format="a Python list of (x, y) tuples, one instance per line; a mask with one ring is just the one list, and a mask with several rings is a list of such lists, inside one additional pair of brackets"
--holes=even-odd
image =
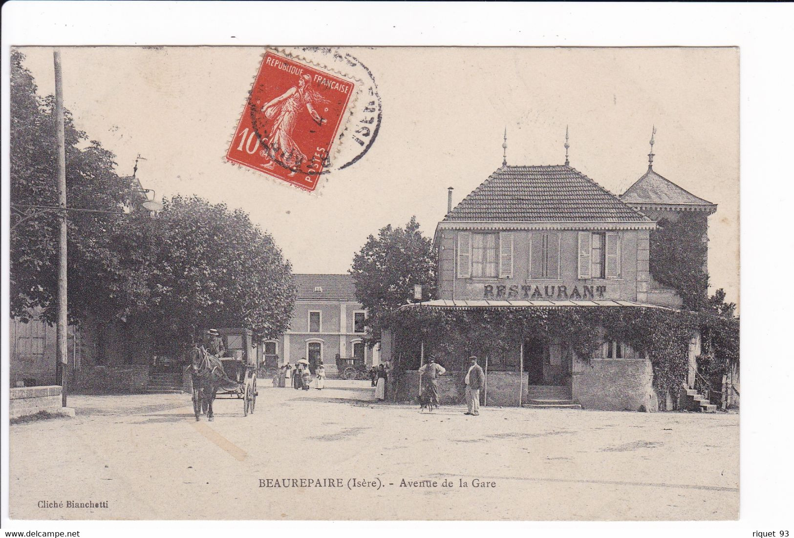
[(300, 151), (298, 144), (292, 138), (298, 113), (305, 106), (311, 118), (317, 125), (322, 125), (326, 120), (314, 110), (314, 103), (329, 102), (317, 90), (309, 86), (310, 75), (303, 75), (298, 79), (298, 86), (292, 86), (279, 97), (268, 102), (262, 107), (262, 112), (268, 120), (273, 120), (273, 125), (268, 131), (265, 151), (268, 157), (289, 168), (293, 173), (306, 160), (306, 155)]

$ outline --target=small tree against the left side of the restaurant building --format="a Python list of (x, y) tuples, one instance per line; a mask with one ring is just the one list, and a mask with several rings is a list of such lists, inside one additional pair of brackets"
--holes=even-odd
[(356, 280), (356, 298), (368, 311), (369, 343), (375, 344), (390, 314), (413, 299), (414, 284), (422, 285), (422, 300), (435, 297), (433, 242), (422, 236), (416, 217), (405, 228), (384, 226), (377, 237), (368, 236), (349, 273)]

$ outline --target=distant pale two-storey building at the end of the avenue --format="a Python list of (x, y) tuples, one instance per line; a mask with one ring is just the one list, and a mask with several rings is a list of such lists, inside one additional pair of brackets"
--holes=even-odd
[(364, 344), (367, 319), (356, 299), (350, 275), (293, 275), (298, 294), (290, 328), (278, 340), (264, 342), (268, 367), (293, 366), (307, 359), (310, 367), (322, 361), (326, 375), (337, 375), (336, 358), (357, 358), (367, 366), (380, 363), (379, 351)]

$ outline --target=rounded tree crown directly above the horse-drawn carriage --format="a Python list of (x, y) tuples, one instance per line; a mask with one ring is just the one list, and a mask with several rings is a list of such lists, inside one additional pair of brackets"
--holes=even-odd
[(144, 230), (137, 238), (144, 259), (128, 282), (144, 283), (143, 317), (159, 321), (160, 332), (187, 341), (210, 326), (245, 327), (260, 339), (287, 330), (295, 304), (290, 263), (247, 213), (175, 196)]

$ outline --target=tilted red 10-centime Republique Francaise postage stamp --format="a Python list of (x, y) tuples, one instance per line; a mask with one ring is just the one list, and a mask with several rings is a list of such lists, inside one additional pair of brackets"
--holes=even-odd
[(354, 90), (352, 80), (265, 53), (226, 159), (316, 189)]

